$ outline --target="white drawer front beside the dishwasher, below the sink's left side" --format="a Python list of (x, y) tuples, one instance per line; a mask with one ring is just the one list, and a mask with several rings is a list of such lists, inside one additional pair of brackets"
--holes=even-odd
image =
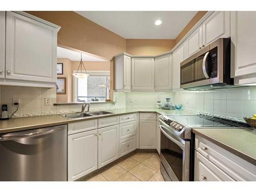
[(68, 124), (68, 135), (90, 131), (98, 128), (98, 120), (80, 121)]

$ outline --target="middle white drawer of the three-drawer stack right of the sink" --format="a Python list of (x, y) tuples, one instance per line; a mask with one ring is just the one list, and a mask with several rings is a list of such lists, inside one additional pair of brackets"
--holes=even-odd
[(119, 140), (136, 134), (136, 121), (119, 124)]

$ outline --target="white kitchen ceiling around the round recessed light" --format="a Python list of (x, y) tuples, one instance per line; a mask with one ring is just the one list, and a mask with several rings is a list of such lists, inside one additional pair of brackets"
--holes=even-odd
[[(197, 11), (75, 11), (126, 39), (175, 39)], [(162, 20), (162, 25), (154, 22)]]

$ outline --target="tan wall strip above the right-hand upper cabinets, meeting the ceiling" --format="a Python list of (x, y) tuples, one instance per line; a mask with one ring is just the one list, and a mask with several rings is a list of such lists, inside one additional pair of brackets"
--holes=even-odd
[(190, 20), (186, 27), (180, 32), (180, 34), (175, 39), (175, 45), (187, 34), (187, 32), (192, 29), (199, 20), (207, 13), (208, 11), (198, 11), (197, 14)]

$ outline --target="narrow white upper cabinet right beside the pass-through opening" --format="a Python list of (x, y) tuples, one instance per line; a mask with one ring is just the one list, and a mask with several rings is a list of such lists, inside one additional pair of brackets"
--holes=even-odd
[(115, 90), (131, 90), (131, 57), (115, 57)]

